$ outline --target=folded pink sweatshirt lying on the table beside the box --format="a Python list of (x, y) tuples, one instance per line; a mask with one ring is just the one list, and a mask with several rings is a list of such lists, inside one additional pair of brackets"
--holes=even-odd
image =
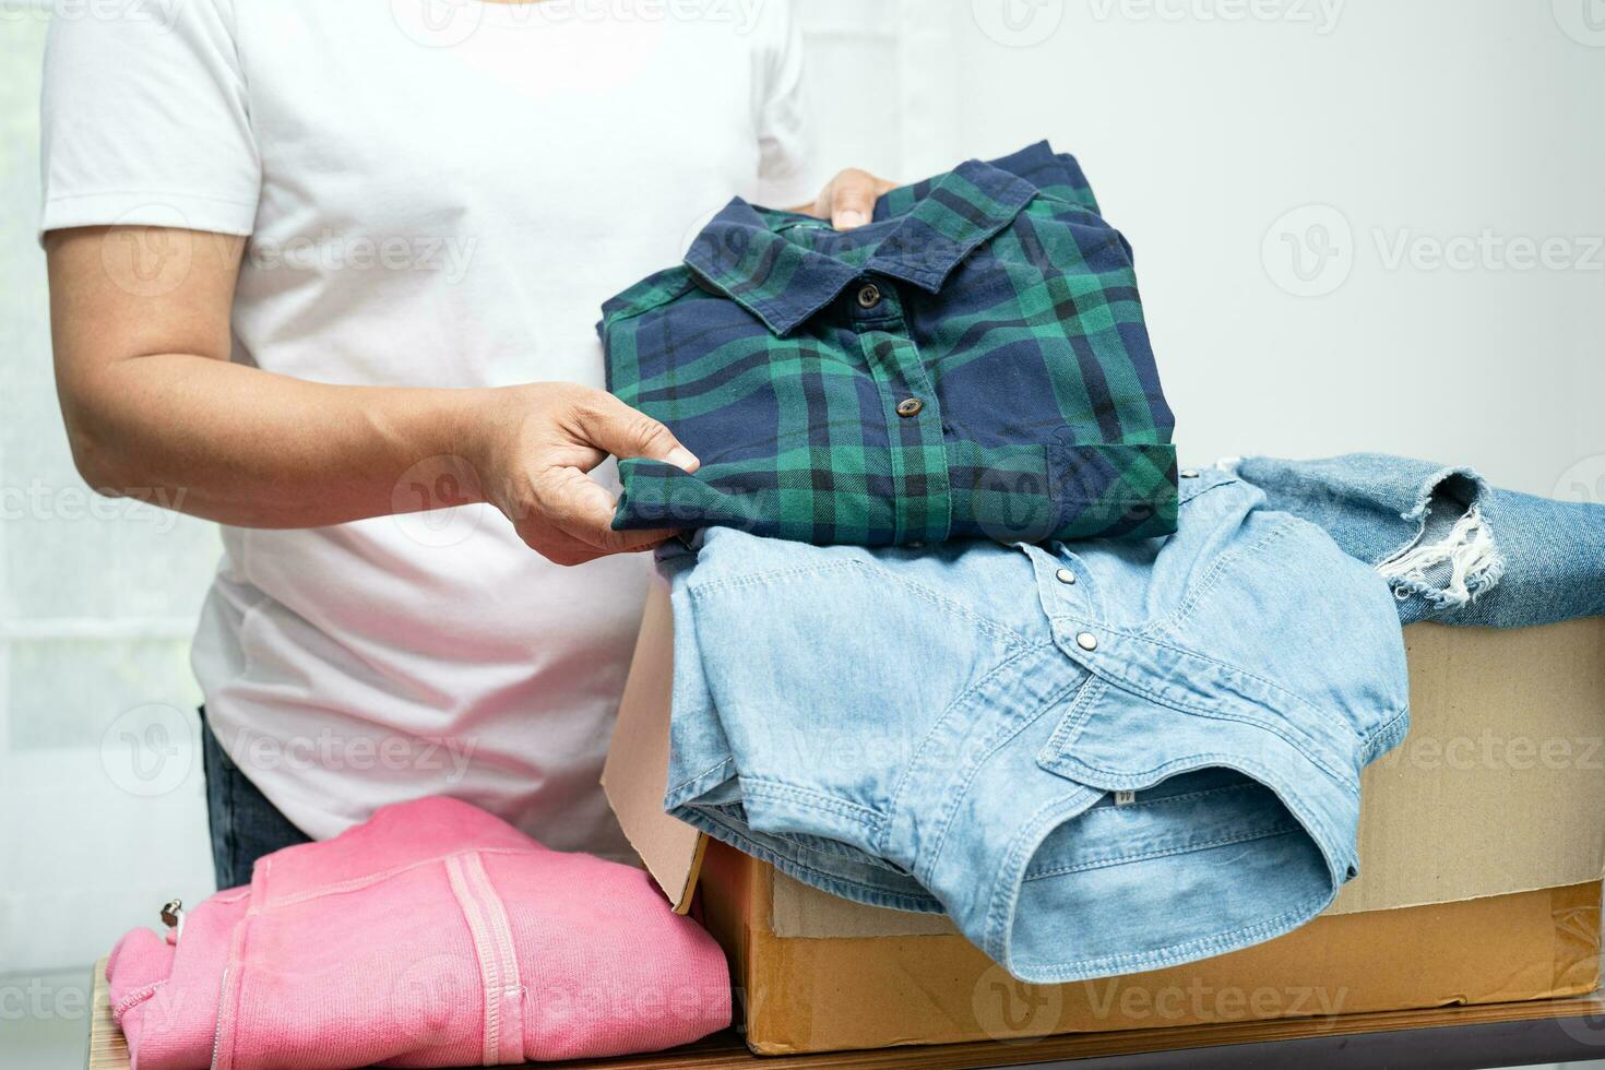
[(730, 1023), (724, 954), (644, 871), (438, 797), (260, 858), (106, 975), (135, 1070), (490, 1067)]

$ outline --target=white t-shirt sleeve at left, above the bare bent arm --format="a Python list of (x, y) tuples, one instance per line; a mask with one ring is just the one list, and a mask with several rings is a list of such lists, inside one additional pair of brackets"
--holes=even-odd
[(178, 226), (249, 234), (262, 167), (231, 0), (51, 18), (40, 104), (39, 233)]

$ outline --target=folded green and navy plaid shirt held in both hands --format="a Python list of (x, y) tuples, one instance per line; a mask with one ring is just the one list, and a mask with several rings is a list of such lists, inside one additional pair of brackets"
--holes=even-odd
[(1175, 531), (1175, 419), (1132, 250), (1046, 143), (894, 189), (852, 231), (737, 197), (599, 330), (608, 390), (703, 462), (621, 460), (616, 529)]

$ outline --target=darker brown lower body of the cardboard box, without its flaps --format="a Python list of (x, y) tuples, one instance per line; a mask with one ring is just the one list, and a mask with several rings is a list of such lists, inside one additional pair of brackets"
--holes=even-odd
[(1597, 882), (1326, 914), (1231, 954), (1069, 985), (1018, 982), (957, 932), (782, 935), (786, 884), (708, 845), (703, 921), (730, 951), (759, 1054), (1509, 1003), (1599, 983)]

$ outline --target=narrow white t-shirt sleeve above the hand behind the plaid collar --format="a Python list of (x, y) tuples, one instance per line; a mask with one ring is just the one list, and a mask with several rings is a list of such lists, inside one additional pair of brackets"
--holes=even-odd
[(825, 184), (814, 154), (814, 124), (809, 116), (807, 82), (802, 64), (802, 32), (793, 5), (774, 3), (758, 101), (758, 201), (770, 207), (793, 207), (819, 196)]

